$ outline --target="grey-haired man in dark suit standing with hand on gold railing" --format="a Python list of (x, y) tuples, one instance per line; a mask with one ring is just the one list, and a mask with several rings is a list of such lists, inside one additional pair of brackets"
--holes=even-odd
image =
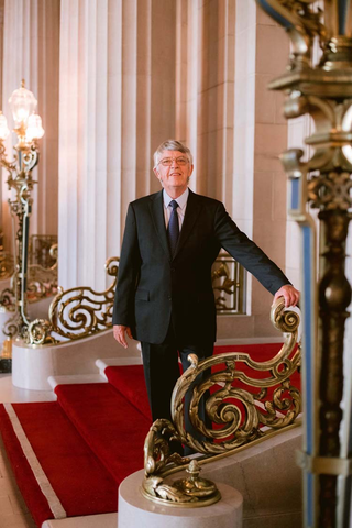
[(285, 305), (299, 293), (252, 242), (223, 205), (188, 188), (190, 151), (168, 140), (154, 154), (154, 173), (163, 189), (129, 206), (121, 249), (113, 334), (128, 348), (127, 334), (142, 343), (153, 420), (170, 419), (170, 395), (190, 352), (212, 354), (216, 307), (211, 265), (221, 248)]

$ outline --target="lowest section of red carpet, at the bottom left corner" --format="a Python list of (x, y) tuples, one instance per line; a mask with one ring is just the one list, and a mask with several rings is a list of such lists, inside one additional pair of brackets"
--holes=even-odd
[[(58, 404), (13, 404), (22, 428), (67, 517), (116, 512), (118, 484), (99, 463)], [(40, 527), (54, 518), (3, 405), (0, 429), (23, 498)]]

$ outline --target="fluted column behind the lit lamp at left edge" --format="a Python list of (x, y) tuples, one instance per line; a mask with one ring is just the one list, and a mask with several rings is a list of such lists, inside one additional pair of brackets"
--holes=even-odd
[[(59, 0), (4, 0), (2, 110), (13, 127), (9, 97), (21, 86), (35, 95), (45, 135), (40, 142), (41, 161), (33, 172), (38, 182), (33, 191), (31, 233), (57, 234), (57, 160), (58, 160), (58, 36)], [(12, 157), (12, 141), (7, 143)], [(3, 178), (4, 180), (4, 178)], [(9, 191), (2, 183), (3, 228), (6, 245), (11, 240), (7, 198)]]

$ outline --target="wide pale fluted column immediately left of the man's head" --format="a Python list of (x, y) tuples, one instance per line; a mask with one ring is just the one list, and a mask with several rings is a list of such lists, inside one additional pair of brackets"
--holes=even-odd
[(62, 0), (64, 287), (106, 287), (128, 204), (160, 188), (152, 153), (175, 131), (175, 25), (172, 0)]

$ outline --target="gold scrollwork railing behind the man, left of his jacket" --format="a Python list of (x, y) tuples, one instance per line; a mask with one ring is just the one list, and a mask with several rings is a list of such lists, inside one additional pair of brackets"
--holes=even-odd
[(111, 328), (118, 262), (119, 258), (113, 256), (106, 263), (108, 275), (114, 279), (105, 292), (95, 292), (89, 287), (58, 288), (50, 307), (50, 320), (36, 319), (30, 323), (29, 342), (58, 344)]

